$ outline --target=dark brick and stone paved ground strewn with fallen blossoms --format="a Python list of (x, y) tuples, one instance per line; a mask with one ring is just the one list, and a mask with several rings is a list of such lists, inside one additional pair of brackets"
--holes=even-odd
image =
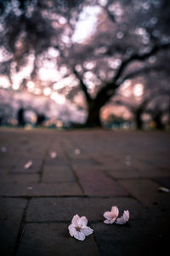
[[(1, 130), (0, 255), (163, 255), (169, 152), (170, 133), (158, 131)], [(103, 223), (115, 205), (128, 224)], [(94, 229), (85, 241), (68, 233), (76, 213)]]

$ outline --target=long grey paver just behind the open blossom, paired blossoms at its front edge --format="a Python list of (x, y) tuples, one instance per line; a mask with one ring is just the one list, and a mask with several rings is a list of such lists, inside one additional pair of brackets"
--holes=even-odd
[(79, 216), (87, 216), (89, 221), (104, 221), (103, 213), (111, 211), (116, 205), (120, 214), (129, 209), (131, 219), (151, 218), (150, 211), (139, 201), (129, 197), (115, 198), (34, 198), (31, 199), (26, 221), (69, 221), (77, 213)]

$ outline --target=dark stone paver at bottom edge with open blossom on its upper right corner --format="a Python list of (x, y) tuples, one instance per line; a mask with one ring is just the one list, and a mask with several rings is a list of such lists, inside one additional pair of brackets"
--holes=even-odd
[(94, 237), (77, 241), (68, 233), (68, 224), (26, 224), (26, 233), (17, 256), (99, 256)]

